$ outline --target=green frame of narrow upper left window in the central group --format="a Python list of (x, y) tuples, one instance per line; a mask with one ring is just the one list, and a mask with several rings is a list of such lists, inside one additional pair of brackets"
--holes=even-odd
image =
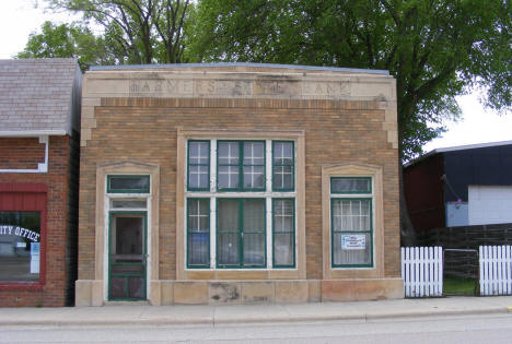
[[(191, 156), (191, 146), (194, 144), (206, 144), (206, 162), (201, 162), (205, 157), (201, 156), (201, 149), (199, 146), (199, 152), (197, 156)], [(200, 176), (205, 174), (206, 170), (206, 185), (200, 186), (201, 179)], [(191, 186), (191, 180), (197, 176), (197, 185)], [(187, 142), (187, 190), (188, 191), (210, 191), (210, 141), (209, 140), (188, 140)]]

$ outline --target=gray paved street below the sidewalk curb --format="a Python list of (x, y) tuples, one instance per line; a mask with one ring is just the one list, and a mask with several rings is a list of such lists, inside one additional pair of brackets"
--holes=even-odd
[(0, 343), (510, 343), (512, 315), (305, 323), (2, 327)]

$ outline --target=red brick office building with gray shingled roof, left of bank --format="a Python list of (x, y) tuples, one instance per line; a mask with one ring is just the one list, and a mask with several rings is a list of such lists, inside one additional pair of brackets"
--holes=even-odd
[(81, 71), (0, 60), (0, 306), (72, 305)]

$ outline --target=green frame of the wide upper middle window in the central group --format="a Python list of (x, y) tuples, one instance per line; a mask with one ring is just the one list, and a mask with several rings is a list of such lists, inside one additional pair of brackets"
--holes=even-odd
[[(254, 155), (248, 156), (245, 152), (246, 144), (260, 143), (263, 144), (263, 156), (255, 157)], [(222, 144), (232, 144), (229, 146), (229, 155), (221, 156), (220, 146)], [(231, 155), (231, 147), (236, 147), (237, 153)], [(254, 146), (253, 146), (254, 149)], [(252, 153), (254, 152), (252, 149)], [(229, 192), (229, 191), (243, 191), (243, 192), (256, 192), (266, 190), (266, 142), (263, 140), (219, 140), (217, 141), (217, 191)], [(223, 159), (224, 162), (221, 162)], [(255, 163), (255, 159), (261, 161), (260, 164)], [(228, 162), (225, 162), (228, 161)], [(233, 162), (232, 162), (233, 161)], [(251, 162), (252, 161), (252, 162)], [(260, 170), (255, 173), (255, 170)], [(255, 175), (260, 176), (261, 187), (246, 187), (245, 176), (248, 174), (251, 178)], [(228, 175), (229, 187), (223, 187), (221, 181), (221, 175)], [(231, 187), (231, 176), (237, 178), (237, 186)], [(254, 183), (254, 179), (251, 179)]]

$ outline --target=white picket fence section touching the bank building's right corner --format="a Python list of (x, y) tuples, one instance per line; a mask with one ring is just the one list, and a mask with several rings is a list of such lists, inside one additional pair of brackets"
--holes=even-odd
[(443, 248), (403, 247), (402, 280), (406, 297), (443, 295)]

